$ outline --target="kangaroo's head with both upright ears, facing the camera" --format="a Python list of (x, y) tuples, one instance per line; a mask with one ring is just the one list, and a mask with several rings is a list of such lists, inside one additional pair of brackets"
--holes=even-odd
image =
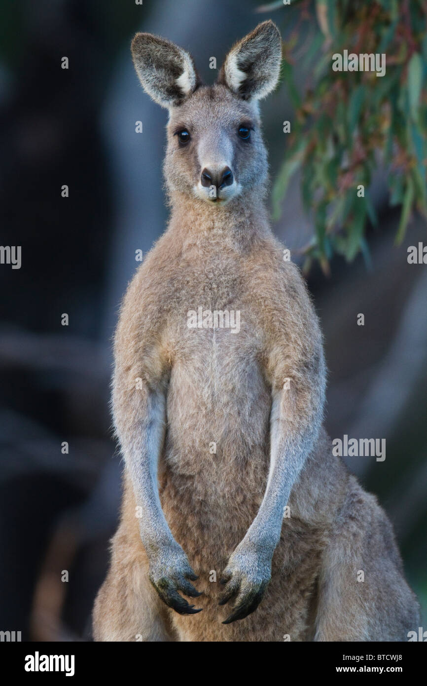
[(258, 100), (276, 86), (282, 44), (272, 21), (259, 24), (204, 86), (184, 49), (136, 34), (132, 57), (145, 91), (169, 110), (164, 176), (170, 191), (217, 205), (245, 193), (263, 196), (267, 152)]

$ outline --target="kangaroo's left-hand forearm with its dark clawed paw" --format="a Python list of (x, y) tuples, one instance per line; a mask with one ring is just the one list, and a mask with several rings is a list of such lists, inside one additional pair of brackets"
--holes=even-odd
[(158, 493), (158, 461), (166, 427), (166, 383), (160, 374), (153, 377), (151, 374), (148, 381), (147, 374), (144, 381), (139, 377), (138, 386), (132, 388), (130, 375), (116, 374), (114, 422), (134, 488), (135, 514), (147, 553), (149, 580), (167, 606), (182, 615), (194, 615), (199, 609), (190, 605), (180, 592), (196, 598), (199, 593), (191, 580), (197, 576), (173, 538)]

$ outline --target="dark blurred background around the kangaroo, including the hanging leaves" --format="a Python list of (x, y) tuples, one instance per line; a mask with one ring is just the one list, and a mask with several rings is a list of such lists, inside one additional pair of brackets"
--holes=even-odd
[[(111, 339), (139, 264), (136, 250), (145, 254), (167, 220), (161, 171), (167, 113), (143, 93), (130, 40), (143, 30), (179, 43), (212, 83), (217, 70), (210, 58), (219, 69), (232, 43), (267, 18), (280, 27), (285, 57), (282, 83), (262, 105), (273, 228), (304, 267), (321, 318), (331, 438), (387, 440), (385, 462), (346, 462), (395, 526), (427, 626), (427, 266), (407, 262), (408, 246), (427, 244), (427, 156), (420, 158), (417, 147), (423, 150), (426, 134), (427, 40), (417, 27), (419, 12), (426, 24), (425, 10), (406, 0), (355, 1), (351, 16), (345, 1), (258, 5), (0, 3), (0, 243), (22, 246), (20, 269), (0, 265), (0, 629), (21, 630), (23, 640), (88, 639), (117, 525), (121, 462), (108, 405)], [(384, 51), (394, 51), (390, 81), (371, 113), (381, 113), (382, 135), (391, 138), (388, 157), (378, 127), (364, 115), (373, 102), (371, 77), (355, 75), (353, 86), (348, 74), (344, 81), (330, 69), (331, 52), (352, 47), (346, 36), (362, 52), (377, 51), (378, 27), (383, 38), (389, 30)], [(331, 95), (328, 79), (335, 77), (343, 90)], [(365, 91), (354, 98), (356, 84)], [(417, 130), (409, 132), (415, 152), (405, 139), (409, 125), (398, 121), (399, 113), (406, 121), (406, 105)], [(325, 135), (316, 108), (330, 127)], [(340, 117), (347, 123), (341, 133)], [(283, 131), (288, 120), (290, 135)], [(310, 147), (301, 151), (293, 134), (301, 139), (303, 132)], [(328, 137), (336, 168), (325, 171), (321, 145)], [(344, 156), (350, 167), (341, 183)], [(297, 159), (292, 169), (290, 159)], [(392, 182), (390, 165), (398, 174)], [(363, 217), (351, 207), (333, 213), (334, 202), (344, 202), (361, 179), (368, 182)], [(363, 327), (356, 324), (360, 313)], [(68, 582), (61, 580), (64, 570)]]

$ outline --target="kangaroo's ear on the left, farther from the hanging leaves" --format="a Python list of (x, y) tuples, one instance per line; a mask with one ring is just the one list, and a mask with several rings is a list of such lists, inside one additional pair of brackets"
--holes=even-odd
[(136, 34), (131, 50), (143, 88), (162, 107), (180, 105), (200, 84), (191, 56), (170, 40)]

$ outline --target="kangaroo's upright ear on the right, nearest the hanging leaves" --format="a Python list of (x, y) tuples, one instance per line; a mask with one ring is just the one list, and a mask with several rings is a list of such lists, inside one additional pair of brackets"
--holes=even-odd
[(230, 50), (218, 83), (243, 99), (259, 100), (276, 86), (282, 60), (282, 39), (271, 20), (263, 21)]

